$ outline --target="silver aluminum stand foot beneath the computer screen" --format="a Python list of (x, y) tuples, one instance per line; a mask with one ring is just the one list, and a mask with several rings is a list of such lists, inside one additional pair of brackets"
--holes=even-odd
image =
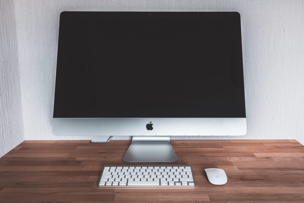
[(177, 156), (169, 136), (132, 136), (125, 162), (175, 162)]

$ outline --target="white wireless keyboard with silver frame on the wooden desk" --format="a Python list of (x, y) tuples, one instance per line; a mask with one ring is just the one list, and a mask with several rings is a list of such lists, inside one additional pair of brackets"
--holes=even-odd
[(191, 165), (110, 165), (98, 187), (195, 187), (195, 181)]

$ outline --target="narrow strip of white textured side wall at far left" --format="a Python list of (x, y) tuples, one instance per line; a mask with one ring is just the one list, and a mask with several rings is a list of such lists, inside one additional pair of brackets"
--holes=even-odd
[(0, 0), (0, 157), (23, 140), (14, 2)]

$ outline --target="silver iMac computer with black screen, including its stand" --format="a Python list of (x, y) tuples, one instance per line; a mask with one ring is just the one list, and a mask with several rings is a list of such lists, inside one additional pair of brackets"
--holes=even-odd
[(133, 136), (123, 161), (174, 162), (169, 136), (246, 131), (239, 13), (60, 14), (54, 135)]

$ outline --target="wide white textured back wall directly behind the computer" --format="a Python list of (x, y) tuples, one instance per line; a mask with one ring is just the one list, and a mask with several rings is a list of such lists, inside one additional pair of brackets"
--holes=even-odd
[(303, 0), (15, 0), (25, 139), (98, 142), (107, 138), (52, 135), (57, 35), (62, 11), (239, 12), (248, 133), (228, 139), (297, 139), (304, 143)]

